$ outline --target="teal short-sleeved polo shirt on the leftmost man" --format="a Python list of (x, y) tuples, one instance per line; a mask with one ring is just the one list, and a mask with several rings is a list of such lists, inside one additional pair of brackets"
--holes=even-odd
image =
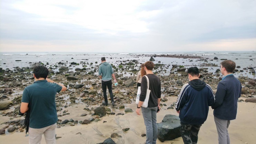
[(35, 81), (24, 89), (21, 102), (29, 103), (29, 127), (43, 128), (58, 121), (55, 95), (61, 89), (62, 86), (47, 80)]

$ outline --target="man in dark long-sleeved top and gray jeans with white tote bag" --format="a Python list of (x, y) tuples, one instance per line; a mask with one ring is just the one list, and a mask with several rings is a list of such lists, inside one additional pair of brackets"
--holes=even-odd
[(139, 97), (139, 103), (136, 109), (137, 115), (141, 112), (144, 118), (144, 123), (146, 126), (146, 144), (156, 144), (157, 140), (157, 123), (156, 123), (156, 113), (158, 109), (160, 110), (160, 100), (161, 100), (161, 82), (158, 76), (156, 76), (152, 69), (154, 68), (154, 63), (147, 61), (144, 64), (144, 69), (147, 73), (149, 80), (149, 100), (148, 107), (141, 107), (146, 98), (147, 93), (147, 78), (145, 76), (141, 79), (141, 93)]

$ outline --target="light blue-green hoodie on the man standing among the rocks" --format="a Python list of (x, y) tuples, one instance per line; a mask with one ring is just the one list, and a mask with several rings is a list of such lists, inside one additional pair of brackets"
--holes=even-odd
[(102, 76), (101, 80), (111, 80), (114, 73), (112, 65), (107, 62), (102, 62), (99, 66), (99, 75)]

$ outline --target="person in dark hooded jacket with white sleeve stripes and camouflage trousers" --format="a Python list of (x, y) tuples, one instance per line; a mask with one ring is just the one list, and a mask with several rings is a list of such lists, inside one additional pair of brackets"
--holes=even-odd
[(188, 69), (188, 80), (182, 86), (175, 109), (180, 118), (180, 134), (184, 144), (196, 144), (201, 125), (206, 121), (209, 106), (214, 104), (215, 97), (210, 85), (199, 80), (198, 68)]

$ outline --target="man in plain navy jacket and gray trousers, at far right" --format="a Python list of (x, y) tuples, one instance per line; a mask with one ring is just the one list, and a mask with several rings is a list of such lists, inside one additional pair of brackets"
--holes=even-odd
[(215, 95), (215, 103), (211, 106), (214, 121), (218, 132), (219, 144), (230, 144), (228, 126), (230, 120), (236, 119), (237, 100), (241, 96), (242, 85), (232, 74), (236, 63), (232, 60), (225, 60), (220, 63), (220, 72), (224, 75), (218, 83)]

